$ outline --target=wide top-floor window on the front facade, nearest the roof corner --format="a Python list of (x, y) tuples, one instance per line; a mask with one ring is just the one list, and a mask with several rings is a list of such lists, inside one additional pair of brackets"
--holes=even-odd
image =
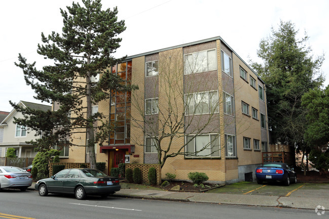
[(193, 74), (216, 69), (216, 50), (202, 51), (184, 56), (185, 74)]

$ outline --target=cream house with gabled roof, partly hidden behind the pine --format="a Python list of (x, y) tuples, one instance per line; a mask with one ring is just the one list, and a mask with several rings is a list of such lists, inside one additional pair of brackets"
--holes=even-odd
[[(20, 106), (29, 107), (31, 109), (39, 110), (51, 110), (51, 106), (30, 103), (26, 101), (20, 101), (18, 103)], [(0, 114), (1, 115), (1, 114)], [(13, 109), (6, 117), (0, 122), (0, 133), (3, 130), (3, 140), (0, 141), (0, 157), (5, 157), (8, 148), (16, 149), (17, 157), (34, 157), (36, 152), (34, 152), (34, 147), (30, 144), (26, 144), (26, 141), (34, 140), (35, 131), (28, 129), (22, 125), (14, 124), (14, 117), (22, 118), (21, 112), (17, 112)]]

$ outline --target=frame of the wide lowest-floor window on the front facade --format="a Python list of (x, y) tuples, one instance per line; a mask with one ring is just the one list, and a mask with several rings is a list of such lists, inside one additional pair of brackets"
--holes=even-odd
[[(208, 136), (208, 143), (207, 144), (210, 144), (210, 145), (208, 145), (207, 147), (209, 147), (210, 146), (210, 148), (209, 149), (204, 149), (203, 151), (201, 151), (201, 152), (199, 152), (199, 153), (202, 153), (202, 152), (204, 152), (204, 151), (207, 151), (207, 150), (210, 150), (210, 154), (208, 154), (208, 155), (200, 155), (200, 156), (185, 156), (185, 158), (221, 158), (222, 157), (222, 149), (221, 149), (221, 138), (220, 138), (220, 135), (219, 134), (216, 134), (216, 133), (209, 133), (209, 134), (202, 134), (202, 135), (187, 135), (187, 136), (185, 136), (185, 152), (188, 152), (187, 151), (187, 147), (188, 147), (188, 144), (187, 144), (187, 138), (188, 137), (193, 137), (193, 139), (192, 139), (192, 141), (191, 142), (193, 142), (193, 148), (194, 148), (194, 152), (193, 153), (195, 153), (197, 150), (196, 150), (196, 147), (197, 147), (197, 145), (196, 145), (196, 139), (198, 138), (198, 137), (201, 137), (201, 136)], [(211, 137), (212, 136), (214, 136), (214, 137), (216, 137), (217, 136), (217, 139), (216, 140), (211, 140)], [(211, 152), (211, 149), (213, 148), (213, 147), (216, 147), (216, 145), (215, 146), (212, 146), (212, 143), (213, 142), (216, 142), (218, 140), (218, 151), (216, 151), (216, 152), (218, 152), (219, 153), (219, 156), (211, 156), (211, 155), (213, 155), (215, 152)], [(213, 141), (213, 142), (212, 142)], [(191, 143), (190, 142), (190, 143)]]

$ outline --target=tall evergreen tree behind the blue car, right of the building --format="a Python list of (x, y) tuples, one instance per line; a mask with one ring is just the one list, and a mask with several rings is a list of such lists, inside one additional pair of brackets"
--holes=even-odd
[(313, 58), (312, 50), (306, 46), (306, 33), (302, 39), (297, 34), (293, 23), (281, 21), (279, 28), (272, 28), (272, 34), (260, 42), (257, 54), (263, 63), (251, 64), (267, 86), (272, 141), (289, 145), (293, 154), (295, 149), (306, 150), (305, 108), (301, 99), (310, 89), (322, 84), (319, 69), (324, 59), (323, 56)]

